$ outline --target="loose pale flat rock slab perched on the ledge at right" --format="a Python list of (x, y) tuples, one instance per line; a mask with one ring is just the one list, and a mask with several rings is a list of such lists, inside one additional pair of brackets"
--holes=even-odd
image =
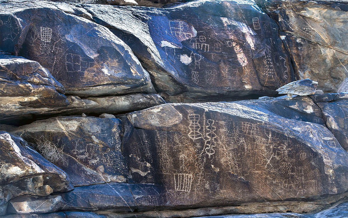
[(276, 91), (279, 94), (292, 94), (299, 96), (313, 95), (316, 93), (318, 82), (310, 79), (298, 80), (286, 85), (283, 85)]

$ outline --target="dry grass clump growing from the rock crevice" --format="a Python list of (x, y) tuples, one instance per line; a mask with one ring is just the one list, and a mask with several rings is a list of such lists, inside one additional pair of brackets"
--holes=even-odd
[(57, 161), (67, 163), (63, 156), (63, 149), (58, 146), (59, 141), (60, 139), (53, 142), (52, 138), (41, 136), (39, 140), (36, 140), (35, 150), (51, 163)]

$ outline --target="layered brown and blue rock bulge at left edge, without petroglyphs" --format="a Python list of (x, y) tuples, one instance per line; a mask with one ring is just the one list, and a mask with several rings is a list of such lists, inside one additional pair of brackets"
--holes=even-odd
[[(68, 105), (64, 87), (38, 62), (0, 55), (0, 117)], [(44, 109), (45, 108), (45, 109)]]

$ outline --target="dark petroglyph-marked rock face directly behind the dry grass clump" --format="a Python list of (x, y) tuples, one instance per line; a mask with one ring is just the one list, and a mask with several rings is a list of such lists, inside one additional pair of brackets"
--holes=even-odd
[(119, 119), (59, 116), (24, 125), (13, 133), (29, 142), (40, 137), (62, 149), (63, 159), (55, 164), (70, 177), (74, 186), (124, 182), (128, 167), (121, 154)]

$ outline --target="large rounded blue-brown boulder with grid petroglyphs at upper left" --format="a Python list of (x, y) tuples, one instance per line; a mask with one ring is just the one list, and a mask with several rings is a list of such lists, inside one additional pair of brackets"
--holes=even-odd
[(87, 18), (83, 8), (62, 2), (2, 1), (0, 50), (39, 62), (65, 94), (153, 93), (148, 72), (130, 48)]

